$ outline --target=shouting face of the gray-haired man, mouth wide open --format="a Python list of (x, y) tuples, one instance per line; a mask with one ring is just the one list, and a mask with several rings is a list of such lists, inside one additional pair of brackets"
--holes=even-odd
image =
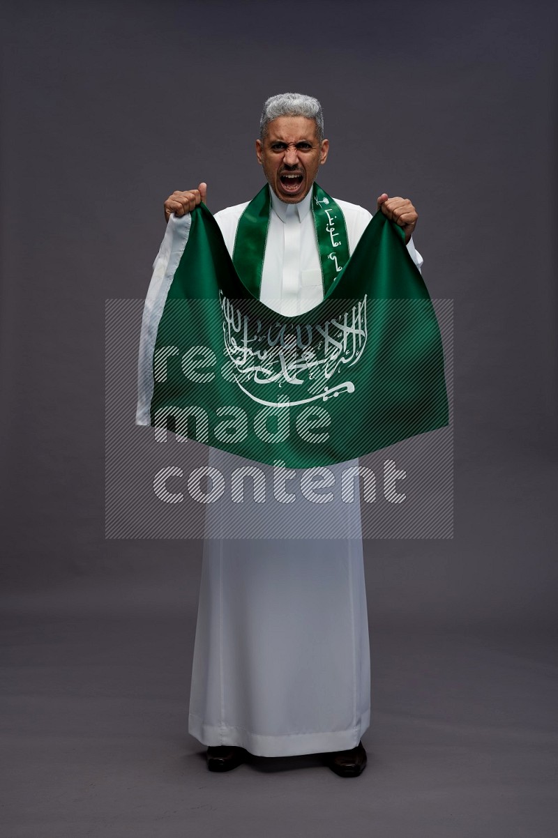
[(256, 155), (277, 198), (298, 204), (306, 197), (328, 157), (328, 140), (318, 141), (318, 126), (306, 116), (278, 116), (267, 126)]

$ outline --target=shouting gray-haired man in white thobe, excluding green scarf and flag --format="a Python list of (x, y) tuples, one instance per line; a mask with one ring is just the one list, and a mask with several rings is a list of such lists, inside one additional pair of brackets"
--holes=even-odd
[[(323, 299), (311, 204), (329, 143), (323, 137), (322, 108), (311, 96), (272, 96), (260, 128), (256, 157), (270, 200), (265, 247), (255, 254), (261, 260), (260, 299), (294, 316)], [(205, 202), (206, 191), (201, 183), (198, 189), (174, 192), (164, 203), (166, 220), (172, 213), (188, 215)], [(353, 252), (372, 216), (333, 200)], [(214, 216), (231, 256), (249, 205)], [(411, 240), (417, 219), (411, 201), (381, 194), (377, 207), (402, 227), (420, 267)], [(238, 458), (211, 448), (209, 463), (226, 471)], [(330, 468), (340, 473), (351, 464)], [(204, 542), (189, 732), (208, 746), (210, 770), (235, 768), (246, 752), (264, 757), (326, 753), (329, 767), (344, 777), (364, 769), (360, 737), (370, 714), (364, 563), (359, 504), (345, 506), (346, 537), (289, 537), (297, 513), (286, 506), (284, 539)]]

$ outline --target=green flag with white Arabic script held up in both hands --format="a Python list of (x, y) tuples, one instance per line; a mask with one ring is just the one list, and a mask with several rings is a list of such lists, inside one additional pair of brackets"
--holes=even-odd
[[(287, 468), (343, 463), (447, 425), (437, 318), (383, 213), (323, 302), (295, 317), (242, 282), (204, 204), (190, 216), (183, 251), (170, 244), (168, 290), (144, 313), (138, 423)], [(186, 223), (169, 221), (173, 238)]]

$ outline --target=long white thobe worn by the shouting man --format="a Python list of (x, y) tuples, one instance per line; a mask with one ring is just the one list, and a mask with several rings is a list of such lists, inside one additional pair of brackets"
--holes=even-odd
[[(335, 200), (353, 252), (371, 215)], [(283, 204), (271, 192), (260, 298), (288, 316), (323, 299), (310, 202), (308, 194), (299, 204)], [(214, 216), (231, 255), (246, 205)], [(412, 242), (408, 247), (420, 266)], [(209, 465), (223, 473), (246, 462), (210, 449)], [(358, 462), (328, 466), (336, 484), (341, 471)], [(341, 516), (340, 538), (290, 538), (297, 511), (285, 504), (282, 539), (204, 541), (189, 711), (189, 732), (199, 742), (288, 756), (355, 747), (369, 727), (360, 508), (358, 498), (333, 504)], [(315, 507), (315, 514), (331, 514), (333, 504)], [(207, 515), (215, 514), (208, 506)], [(251, 515), (251, 507), (238, 504), (236, 514)]]

